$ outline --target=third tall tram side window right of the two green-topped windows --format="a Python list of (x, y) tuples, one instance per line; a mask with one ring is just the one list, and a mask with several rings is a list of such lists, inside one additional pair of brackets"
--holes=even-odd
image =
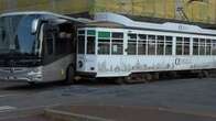
[(155, 55), (155, 35), (148, 35), (148, 55)]

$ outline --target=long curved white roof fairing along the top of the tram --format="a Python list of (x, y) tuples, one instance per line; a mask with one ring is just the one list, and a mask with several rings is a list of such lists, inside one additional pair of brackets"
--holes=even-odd
[(197, 25), (190, 25), (183, 23), (150, 23), (150, 22), (139, 22), (133, 21), (120, 14), (101, 12), (95, 14), (95, 21), (98, 22), (114, 22), (122, 24), (126, 28), (143, 29), (143, 30), (158, 30), (158, 31), (169, 31), (169, 32), (180, 32), (180, 33), (196, 33), (196, 34), (209, 34), (216, 35), (216, 30), (202, 29)]

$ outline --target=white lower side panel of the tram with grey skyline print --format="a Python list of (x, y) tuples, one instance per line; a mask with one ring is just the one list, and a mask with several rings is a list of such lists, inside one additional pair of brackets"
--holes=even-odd
[(216, 68), (215, 57), (98, 56), (97, 77), (129, 76), (133, 73)]

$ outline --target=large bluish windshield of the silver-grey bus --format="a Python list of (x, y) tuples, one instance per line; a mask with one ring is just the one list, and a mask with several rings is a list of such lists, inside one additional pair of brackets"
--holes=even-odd
[(36, 34), (31, 33), (32, 21), (39, 15), (8, 15), (0, 18), (0, 55), (37, 55)]

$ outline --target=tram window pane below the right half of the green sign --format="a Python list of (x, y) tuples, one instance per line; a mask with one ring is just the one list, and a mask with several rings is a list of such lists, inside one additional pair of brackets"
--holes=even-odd
[(123, 54), (123, 40), (112, 40), (111, 41), (111, 54), (112, 55)]

